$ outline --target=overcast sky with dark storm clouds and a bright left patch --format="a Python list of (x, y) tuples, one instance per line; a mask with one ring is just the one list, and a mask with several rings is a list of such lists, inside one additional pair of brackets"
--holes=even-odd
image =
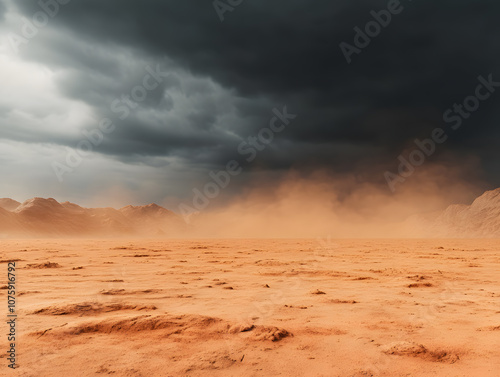
[[(500, 81), (497, 0), (401, 1), (350, 64), (339, 45), (390, 2), (243, 0), (223, 14), (211, 0), (46, 2), (0, 0), (0, 197), (20, 201), (175, 207), (231, 160), (243, 172), (227, 196), (290, 169), (385, 185), (415, 138), (450, 130), (443, 113), (478, 76)], [(155, 88), (119, 110), (151, 70)], [(473, 160), (500, 186), (499, 101), (500, 89), (428, 163)], [(245, 161), (239, 145), (285, 106), (297, 117)], [(58, 179), (54, 164), (106, 119), (113, 130)]]

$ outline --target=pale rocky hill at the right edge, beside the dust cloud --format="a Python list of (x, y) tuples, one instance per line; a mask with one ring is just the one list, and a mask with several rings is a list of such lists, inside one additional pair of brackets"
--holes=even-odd
[(486, 191), (471, 205), (454, 204), (407, 223), (422, 236), (500, 238), (500, 188)]

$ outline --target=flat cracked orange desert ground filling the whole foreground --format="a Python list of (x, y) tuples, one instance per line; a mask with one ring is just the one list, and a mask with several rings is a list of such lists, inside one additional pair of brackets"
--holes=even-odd
[(5, 276), (17, 260), (20, 367), (3, 353), (0, 375), (499, 376), (499, 248), (3, 240)]

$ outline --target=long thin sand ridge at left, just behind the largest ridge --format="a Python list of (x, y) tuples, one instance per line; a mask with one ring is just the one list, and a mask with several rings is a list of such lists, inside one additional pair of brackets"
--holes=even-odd
[(131, 305), (123, 303), (101, 304), (97, 302), (84, 302), (81, 304), (70, 304), (64, 306), (48, 306), (38, 309), (31, 314), (44, 315), (77, 315), (92, 316), (100, 313), (109, 313), (121, 310), (156, 310), (154, 305)]

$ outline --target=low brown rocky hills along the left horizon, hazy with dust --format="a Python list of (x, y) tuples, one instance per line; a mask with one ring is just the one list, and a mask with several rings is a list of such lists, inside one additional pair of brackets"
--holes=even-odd
[(156, 204), (114, 208), (84, 208), (55, 199), (24, 203), (0, 199), (0, 236), (174, 236), (186, 224)]

